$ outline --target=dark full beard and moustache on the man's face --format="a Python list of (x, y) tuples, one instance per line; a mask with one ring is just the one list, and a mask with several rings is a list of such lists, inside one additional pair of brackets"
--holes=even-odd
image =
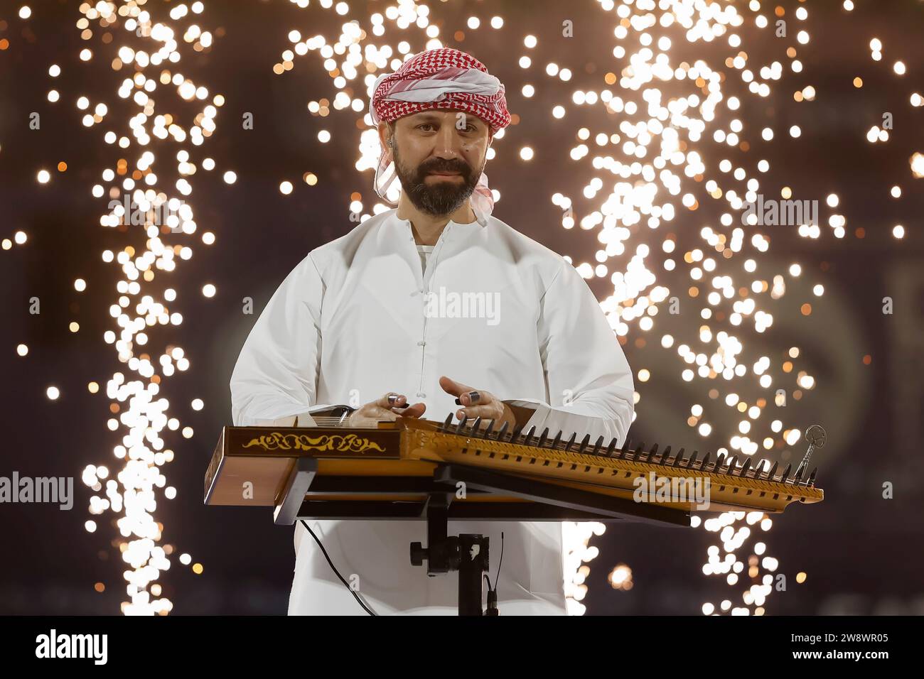
[[(424, 214), (444, 216), (456, 212), (475, 192), (481, 176), (480, 171), (477, 174), (473, 173), (471, 167), (460, 159), (434, 158), (419, 165), (416, 171), (410, 171), (401, 163), (396, 147), (393, 156), (395, 174), (401, 182), (401, 189), (414, 207)], [(447, 179), (432, 185), (426, 184), (425, 180), (431, 172), (457, 172), (462, 176), (462, 183), (456, 182), (455, 179)]]

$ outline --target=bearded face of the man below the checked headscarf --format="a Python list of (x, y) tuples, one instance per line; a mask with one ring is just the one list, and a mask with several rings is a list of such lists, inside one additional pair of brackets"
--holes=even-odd
[(490, 144), (488, 124), (453, 109), (395, 121), (392, 155), (402, 190), (420, 212), (442, 216), (474, 192)]

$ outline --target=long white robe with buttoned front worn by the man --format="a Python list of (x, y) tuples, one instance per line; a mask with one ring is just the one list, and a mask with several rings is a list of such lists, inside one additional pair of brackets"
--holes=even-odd
[[(312, 250), (275, 291), (231, 377), (234, 424), (280, 424), (388, 392), (442, 421), (459, 408), (439, 385), (445, 375), (533, 408), (524, 430), (622, 443), (631, 371), (574, 267), (492, 216), (450, 221), (421, 267), (411, 224), (395, 212)], [(428, 577), (410, 563), (410, 542), (426, 546), (425, 521), (308, 523), (375, 612), (456, 613), (457, 575)], [(502, 531), (501, 614), (564, 614), (560, 523), (449, 524), (450, 535), (490, 538), (492, 581)], [(295, 546), (289, 614), (366, 614), (298, 523)]]

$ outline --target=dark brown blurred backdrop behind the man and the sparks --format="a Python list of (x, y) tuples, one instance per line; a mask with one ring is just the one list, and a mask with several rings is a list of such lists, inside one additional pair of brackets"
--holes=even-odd
[[(117, 158), (130, 162), (140, 154), (135, 145), (122, 151), (102, 140), (107, 129), (126, 131), (118, 127), (124, 124), (120, 121), (135, 110), (115, 94), (128, 70), (116, 73), (108, 66), (116, 45), (132, 44), (132, 36), (123, 39), (126, 31), (116, 26), (109, 29), (116, 40), (104, 44), (105, 30), (94, 23), (91, 40), (83, 41), (75, 28), (81, 17), (77, 3), (33, 3), (33, 15), (26, 21), (17, 17), (20, 5), (0, 3), (0, 20), (6, 22), (0, 23), (0, 40), (8, 40), (0, 51), (0, 238), (12, 238), (20, 229), (29, 236), (23, 246), (0, 250), (4, 309), (0, 475), (9, 476), (16, 469), (22, 476), (73, 476), (76, 502), (70, 512), (61, 512), (56, 505), (0, 505), (0, 544), (6, 552), (0, 559), (0, 612), (114, 613), (125, 598), (126, 565), (114, 546), (117, 532), (110, 522), (115, 516), (111, 512), (89, 515), (91, 492), (79, 477), (88, 464), (118, 468), (111, 454), (118, 434), (105, 427), (110, 412), (104, 390), (114, 371), (128, 374), (128, 370), (102, 339), (103, 332), (115, 328), (108, 307), (117, 297), (117, 277), (116, 268), (101, 260), (101, 252), (128, 244), (143, 249), (144, 239), (137, 228), (125, 232), (102, 228), (99, 216), (108, 199), (94, 199), (91, 186), (103, 183), (100, 173), (104, 167), (115, 167)], [(757, 157), (767, 158), (772, 170), (760, 176), (762, 193), (776, 198), (779, 188), (789, 186), (794, 198), (821, 201), (821, 238), (800, 238), (794, 229), (769, 233), (772, 247), (761, 256), (759, 271), (765, 276), (785, 273), (794, 261), (803, 267), (799, 279), (787, 276), (787, 295), (771, 306), (772, 328), (758, 336), (753, 329), (748, 333), (746, 321), (738, 329), (748, 357), (753, 361), (770, 356), (773, 370), (778, 370), (788, 347), (800, 347), (799, 365), (816, 378), (817, 386), (801, 400), (790, 401), (781, 418), (803, 430), (817, 422), (828, 431), (827, 446), (813, 459), (820, 467), (825, 501), (774, 515), (772, 531), (762, 538), (788, 578), (787, 591), (774, 592), (766, 608), (770, 614), (920, 613), (924, 612), (924, 499), (918, 487), (924, 434), (924, 267), (919, 234), (924, 201), (921, 180), (912, 178), (908, 158), (912, 152), (924, 152), (924, 115), (909, 105), (908, 96), (912, 91), (924, 93), (920, 41), (924, 6), (914, 0), (881, 0), (857, 2), (857, 9), (845, 12), (840, 2), (810, 2), (802, 4), (809, 9), (808, 21), (799, 22), (792, 17), (799, 3), (781, 5), (790, 26), (796, 26), (790, 30), (804, 25), (811, 34), (808, 45), (798, 46), (803, 72), (793, 74), (784, 55), (785, 45), (795, 41), (781, 42), (772, 30), (756, 30), (748, 23), (739, 31), (741, 49), (748, 50), (757, 68), (779, 60), (784, 79), (772, 83), (772, 95), (766, 99), (749, 95), (740, 81), (734, 87), (729, 83), (728, 93), (737, 94), (744, 104), (739, 117), (745, 123), (742, 138), (752, 145), (750, 152), (722, 151), (711, 140), (701, 142), (710, 168), (707, 176), (719, 174), (713, 168), (720, 157), (748, 167)], [(353, 3), (351, 16), (368, 16), (384, 6)], [(738, 6), (746, 17), (752, 16), (745, 3)], [(579, 173), (586, 172), (588, 165), (571, 162), (567, 153), (581, 125), (590, 127), (592, 140), (598, 131), (615, 131), (620, 118), (607, 117), (599, 106), (591, 110), (571, 105), (570, 92), (600, 91), (605, 87), (602, 74), (618, 72), (620, 65), (612, 54), (613, 16), (590, 2), (433, 2), (432, 10), (432, 18), (440, 18), (436, 23), (444, 44), (485, 63), (505, 83), (511, 113), (517, 115), (505, 139), (495, 142), (498, 158), (488, 166), (492, 188), (502, 193), (494, 216), (576, 262), (592, 261), (595, 232), (561, 228), (561, 213), (548, 197), (554, 191), (575, 197), (578, 217), (594, 205), (580, 194), (589, 176)], [(505, 18), (503, 30), (485, 28), (494, 14)], [(466, 30), (470, 15), (482, 19), (480, 30)], [(574, 21), (573, 39), (559, 37), (565, 19)], [(159, 273), (152, 284), (152, 289), (176, 288), (179, 298), (171, 310), (182, 312), (185, 320), (178, 327), (166, 326), (162, 334), (152, 331), (146, 347), (156, 356), (163, 346), (176, 344), (191, 361), (189, 370), (162, 383), (162, 393), (171, 400), (170, 414), (182, 426), (194, 428), (195, 436), (186, 440), (178, 431), (164, 432), (168, 447), (176, 452), (164, 474), (168, 484), (176, 487), (177, 497), (159, 500), (156, 517), (164, 523), (163, 542), (175, 545), (177, 553), (189, 552), (193, 562), (204, 566), (197, 576), (173, 560), (164, 574), (164, 597), (174, 602), (177, 614), (286, 611), (294, 563), (291, 529), (274, 527), (269, 511), (204, 507), (202, 477), (219, 430), (230, 423), (227, 383), (256, 313), (310, 249), (354, 225), (348, 209), (352, 193), (359, 192), (367, 211), (374, 203), (371, 172), (359, 173), (353, 166), (357, 121), (363, 114), (332, 108), (331, 115), (322, 119), (306, 108), (310, 100), (334, 98), (336, 90), (321, 58), (310, 52), (297, 56), (295, 68), (282, 76), (272, 70), (291, 45), (286, 39), (289, 30), (301, 30), (303, 37), (319, 32), (333, 41), (339, 32), (335, 27), (346, 20), (315, 3), (299, 10), (283, 0), (208, 2), (195, 21), (213, 30), (212, 48), (194, 55), (184, 46), (184, 61), (171, 66), (226, 98), (213, 136), (201, 147), (183, 146), (195, 162), (208, 156), (217, 163), (212, 172), (200, 168), (189, 179), (194, 191), (187, 201), (195, 211), (199, 232), (174, 236), (172, 241), (188, 243), (195, 254), (180, 261), (176, 272)], [(179, 23), (185, 26), (190, 20)], [(465, 31), (463, 41), (452, 39), (455, 30)], [(394, 46), (407, 39), (413, 52), (424, 49), (419, 30), (404, 32), (395, 38), (400, 31), (390, 30), (389, 42)], [(522, 38), (529, 33), (540, 38), (535, 50), (522, 47)], [(879, 63), (869, 58), (872, 37), (884, 44)], [(724, 40), (704, 45), (683, 41), (675, 33), (672, 38), (672, 61), (704, 58), (721, 67), (723, 57), (718, 55), (731, 53)], [(79, 61), (83, 47), (93, 49), (91, 62)], [(524, 80), (517, 59), (528, 53), (534, 63), (529, 80)], [(891, 70), (896, 59), (907, 66), (902, 78)], [(540, 75), (548, 61), (571, 67), (575, 77), (562, 83)], [(53, 63), (63, 69), (57, 79), (47, 75)], [(857, 76), (864, 80), (859, 90), (852, 85)], [(525, 81), (537, 86), (537, 96), (531, 100), (520, 94)], [(816, 100), (795, 103), (792, 92), (808, 84), (819, 92)], [(46, 99), (52, 87), (61, 92), (58, 103)], [(109, 105), (105, 124), (82, 127), (84, 112), (74, 105), (81, 94), (89, 96), (91, 103)], [(364, 89), (361, 96), (365, 101)], [(158, 103), (169, 100), (171, 106), (176, 99), (162, 89), (154, 97)], [(567, 107), (564, 121), (549, 115), (555, 103)], [(194, 108), (190, 105), (186, 112)], [(28, 126), (33, 111), (42, 115), (41, 130)], [(891, 139), (869, 144), (866, 130), (881, 124), (886, 111), (894, 112)], [(244, 112), (254, 115), (252, 130), (241, 128)], [(802, 129), (800, 139), (785, 133), (794, 124)], [(772, 143), (760, 139), (760, 128), (766, 126), (776, 132)], [(321, 128), (332, 131), (330, 143), (317, 142)], [(521, 145), (532, 146), (537, 159), (520, 161), (516, 150)], [(164, 144), (160, 150), (155, 140), (152, 148), (162, 177), (158, 187), (172, 185), (168, 168), (173, 163), (167, 156), (179, 147)], [(59, 161), (67, 162), (67, 172), (55, 170)], [(40, 168), (51, 172), (50, 183), (36, 181)], [(229, 169), (237, 172), (232, 186), (221, 180)], [(317, 186), (301, 181), (309, 171), (319, 176)], [(295, 186), (289, 196), (278, 189), (284, 179)], [(889, 196), (894, 184), (903, 188), (901, 200)], [(720, 233), (728, 231), (715, 221), (720, 208), (703, 203), (701, 185), (695, 190), (702, 203), (699, 211), (687, 212), (677, 201), (675, 221), (662, 227), (676, 234), (679, 253), (703, 247), (698, 234), (704, 224)], [(835, 211), (824, 205), (831, 192), (841, 198)], [(831, 212), (847, 217), (843, 239), (834, 238), (826, 224)], [(906, 227), (901, 241), (891, 235), (894, 224)], [(863, 229), (863, 237), (858, 237), (857, 228)], [(216, 234), (215, 245), (201, 244), (203, 231)], [(660, 239), (647, 229), (638, 231), (638, 239), (649, 242), (652, 250), (660, 247)], [(732, 262), (739, 265), (744, 256), (741, 253)], [(679, 271), (686, 269), (681, 265)], [(87, 281), (84, 293), (73, 288), (78, 277)], [(217, 286), (216, 297), (202, 297), (205, 283)], [(659, 283), (671, 285), (688, 299), (681, 294), (687, 278), (659, 273)], [(825, 286), (823, 297), (810, 294), (815, 283)], [(601, 298), (612, 294), (605, 280), (590, 285)], [(30, 315), (30, 297), (42, 300), (41, 315)], [(254, 316), (241, 313), (243, 297), (253, 297)], [(894, 314), (882, 313), (883, 297), (893, 297)], [(814, 309), (809, 317), (799, 313), (804, 301)], [(701, 324), (699, 306), (686, 306), (694, 308), (669, 321), (659, 318), (655, 332), (673, 333), (676, 344), (693, 343)], [(79, 333), (67, 331), (70, 321), (79, 322)], [(711, 325), (713, 331), (725, 327)], [(737, 418), (723, 420), (720, 413), (727, 408), (709, 410), (702, 381), (680, 380), (682, 367), (675, 349), (664, 350), (656, 341), (639, 343), (640, 334), (632, 326), (624, 347), (633, 370), (652, 370), (649, 382), (636, 384), (641, 400), (630, 431), (633, 439), (710, 449), (687, 426), (690, 405), (699, 403), (713, 414), (708, 418), (713, 424), (709, 442), (719, 442), (716, 447), (724, 443)], [(25, 358), (16, 354), (19, 343), (30, 347)], [(864, 356), (870, 357), (869, 365), (863, 363)], [(100, 394), (88, 393), (90, 381), (100, 383)], [(748, 403), (753, 402), (751, 394), (772, 398), (769, 392), (758, 394), (756, 379), (751, 382), (751, 392), (739, 390), (743, 397), (747, 394)], [(57, 401), (45, 396), (49, 384), (61, 389)], [(205, 402), (199, 412), (189, 407), (196, 397)], [(805, 444), (798, 443), (769, 456), (785, 462), (798, 459), (804, 450)], [(888, 501), (881, 497), (887, 480), (894, 483), (894, 499)], [(93, 534), (83, 527), (88, 518), (98, 524)], [(703, 602), (726, 598), (737, 604), (743, 582), (727, 587), (701, 573), (706, 548), (713, 541), (714, 536), (702, 529), (609, 527), (592, 542), (600, 554), (590, 562), (590, 591), (584, 600), (588, 613), (697, 613)], [(747, 558), (745, 552), (743, 548), (739, 553)], [(606, 576), (617, 563), (632, 568), (634, 587), (629, 591), (615, 590), (607, 583)], [(796, 585), (800, 571), (808, 573), (808, 579)], [(103, 592), (94, 591), (98, 582), (104, 584)]]

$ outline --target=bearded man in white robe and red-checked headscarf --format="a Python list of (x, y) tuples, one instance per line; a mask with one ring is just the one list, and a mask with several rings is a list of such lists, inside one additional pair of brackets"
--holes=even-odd
[[(633, 382), (610, 322), (568, 261), (491, 216), (484, 166), (510, 122), (504, 86), (470, 55), (430, 50), (376, 80), (370, 117), (383, 145), (374, 188), (387, 200), (397, 176), (397, 206), (279, 286), (237, 359), (234, 423), (310, 425), (351, 404), (352, 424), (454, 412), (622, 443)], [(496, 317), (433, 309), (436, 290), (492, 296)], [(502, 614), (565, 613), (560, 523), (450, 530), (488, 536), (493, 553), (504, 532)], [(456, 577), (413, 566), (412, 541), (426, 541), (425, 522), (299, 522), (288, 612), (455, 614)]]

